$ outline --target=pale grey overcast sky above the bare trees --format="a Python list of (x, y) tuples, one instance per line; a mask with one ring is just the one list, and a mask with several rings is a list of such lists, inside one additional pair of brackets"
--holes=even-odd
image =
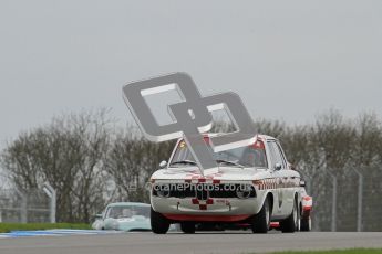
[(126, 82), (179, 71), (252, 118), (381, 116), (381, 68), (382, 1), (1, 0), (0, 144), (82, 109), (124, 124)]

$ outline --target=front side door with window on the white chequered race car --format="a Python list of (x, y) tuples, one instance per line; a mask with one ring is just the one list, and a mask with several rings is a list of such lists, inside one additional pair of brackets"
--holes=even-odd
[[(271, 170), (273, 170), (272, 176), (277, 181), (277, 198), (275, 199), (276, 203), (276, 214), (277, 215), (286, 215), (289, 211), (288, 200), (290, 199), (290, 193), (288, 188), (286, 188), (286, 183), (288, 182), (287, 176), (287, 161), (283, 157), (283, 154), (280, 150), (280, 146), (277, 140), (268, 141), (268, 147), (270, 150), (271, 157)], [(275, 211), (275, 209), (273, 209)]]

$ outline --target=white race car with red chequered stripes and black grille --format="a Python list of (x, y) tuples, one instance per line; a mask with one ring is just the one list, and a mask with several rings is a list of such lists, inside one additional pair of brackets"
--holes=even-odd
[[(207, 144), (210, 136), (218, 134), (206, 135)], [(250, 224), (254, 233), (267, 233), (271, 222), (279, 222), (282, 232), (310, 223), (310, 210), (301, 218), (307, 214), (304, 183), (276, 138), (257, 135), (251, 146), (210, 151), (218, 170), (205, 170), (202, 176), (186, 142), (179, 139), (169, 162), (163, 161), (162, 169), (153, 173), (154, 233), (166, 233), (173, 223), (180, 223), (185, 233), (194, 233), (195, 224), (200, 223)]]

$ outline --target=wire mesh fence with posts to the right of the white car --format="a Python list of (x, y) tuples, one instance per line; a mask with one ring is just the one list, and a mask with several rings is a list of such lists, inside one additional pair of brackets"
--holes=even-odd
[(313, 197), (313, 231), (382, 231), (382, 169), (302, 171)]

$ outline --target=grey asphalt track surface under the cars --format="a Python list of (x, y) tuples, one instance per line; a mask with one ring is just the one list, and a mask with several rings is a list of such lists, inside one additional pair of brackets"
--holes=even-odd
[(0, 239), (1, 254), (236, 254), (351, 247), (382, 247), (382, 232), (295, 234), (270, 232), (264, 235), (249, 232), (155, 235), (147, 232)]

